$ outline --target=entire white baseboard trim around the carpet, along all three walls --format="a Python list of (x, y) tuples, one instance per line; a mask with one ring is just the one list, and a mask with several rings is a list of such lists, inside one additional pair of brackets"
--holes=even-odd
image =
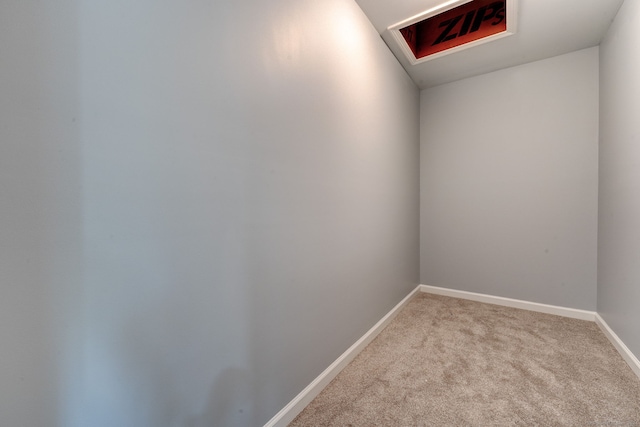
[(411, 300), (417, 292), (426, 292), (453, 298), (461, 298), (487, 304), (501, 305), (536, 311), (539, 313), (555, 314), (557, 316), (595, 322), (609, 341), (613, 344), (622, 358), (627, 362), (633, 372), (640, 378), (640, 361), (627, 348), (622, 340), (613, 332), (607, 323), (594, 311), (578, 310), (554, 305), (540, 304), (511, 298), (496, 297), (474, 292), (458, 291), (454, 289), (440, 288), (437, 286), (418, 285), (409, 295), (400, 301), (389, 313), (375, 324), (355, 344), (345, 351), (335, 362), (324, 370), (315, 380), (300, 392), (291, 402), (278, 412), (264, 427), (286, 427), (320, 392), (360, 353), (382, 330), (393, 320), (402, 308)]

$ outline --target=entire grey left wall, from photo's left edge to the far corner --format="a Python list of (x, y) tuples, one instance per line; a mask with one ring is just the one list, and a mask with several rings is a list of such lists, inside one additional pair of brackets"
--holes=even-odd
[(262, 425), (418, 283), (353, 1), (0, 4), (0, 425)]

